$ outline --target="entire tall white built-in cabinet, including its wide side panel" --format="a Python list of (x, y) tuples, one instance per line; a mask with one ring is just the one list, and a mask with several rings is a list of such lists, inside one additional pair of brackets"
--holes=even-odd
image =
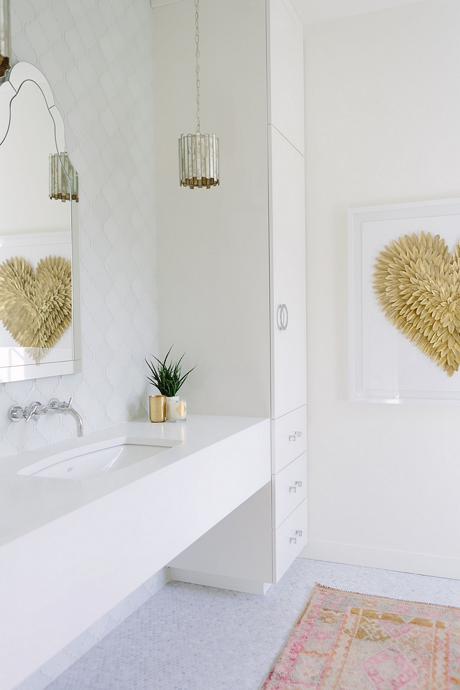
[(263, 592), (307, 539), (302, 24), (290, 0), (203, 4), (201, 129), (220, 137), (221, 182), (188, 190), (176, 141), (194, 130), (193, 5), (153, 17), (160, 354), (174, 343), (197, 365), (190, 411), (272, 420), (270, 484), (171, 567)]

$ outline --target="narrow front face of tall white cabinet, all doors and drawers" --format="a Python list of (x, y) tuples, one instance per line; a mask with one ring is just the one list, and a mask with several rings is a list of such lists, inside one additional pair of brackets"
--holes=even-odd
[(268, 0), (267, 10), (272, 581), (278, 582), (307, 541), (303, 27), (289, 0)]

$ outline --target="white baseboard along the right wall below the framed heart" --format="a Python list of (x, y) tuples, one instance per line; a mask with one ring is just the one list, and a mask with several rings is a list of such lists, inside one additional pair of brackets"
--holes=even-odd
[(299, 558), (460, 580), (460, 558), (427, 553), (371, 549), (367, 546), (333, 542), (308, 542), (300, 552)]

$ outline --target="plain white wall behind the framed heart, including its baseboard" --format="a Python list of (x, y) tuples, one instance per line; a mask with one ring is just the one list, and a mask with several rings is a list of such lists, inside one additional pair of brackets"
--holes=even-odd
[(309, 26), (309, 545), (460, 578), (460, 407), (348, 402), (346, 210), (460, 196), (460, 3)]

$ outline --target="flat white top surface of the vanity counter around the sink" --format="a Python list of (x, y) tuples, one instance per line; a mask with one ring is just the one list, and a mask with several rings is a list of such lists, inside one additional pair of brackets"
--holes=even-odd
[[(178, 424), (155, 424), (145, 419), (116, 424), (82, 438), (5, 457), (0, 460), (0, 546), (261, 422), (266, 420), (213, 415), (188, 415), (186, 422)], [(89, 480), (17, 474), (50, 455), (119, 436), (162, 438), (182, 443), (152, 458)]]

